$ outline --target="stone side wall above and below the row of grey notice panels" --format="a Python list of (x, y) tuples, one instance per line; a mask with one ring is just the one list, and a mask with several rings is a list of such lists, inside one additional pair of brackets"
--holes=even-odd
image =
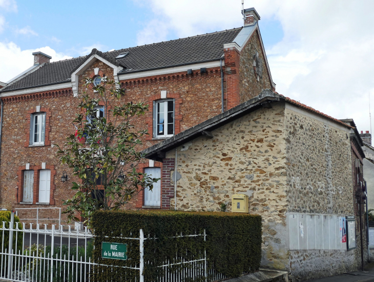
[[(299, 109), (285, 109), (287, 212), (354, 215), (350, 131)], [(357, 269), (355, 250), (289, 254), (293, 281)]]

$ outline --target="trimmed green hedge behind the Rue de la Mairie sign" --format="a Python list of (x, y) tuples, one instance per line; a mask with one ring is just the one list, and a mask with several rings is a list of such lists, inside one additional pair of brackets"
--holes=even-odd
[[(157, 239), (144, 240), (145, 281), (152, 281), (162, 275), (162, 268), (151, 267), (162, 265), (165, 259), (171, 261), (176, 254), (189, 259), (196, 257), (199, 251), (206, 248), (208, 267), (230, 277), (237, 277), (243, 271), (258, 270), (261, 261), (261, 216), (228, 213), (228, 212), (181, 212), (181, 211), (98, 211), (92, 217), (95, 230), (93, 256), (100, 264), (138, 267), (138, 240), (113, 237), (139, 237), (143, 229), (144, 237)], [(175, 237), (176, 235), (203, 234), (203, 236)], [(105, 237), (109, 236), (109, 237)], [(101, 258), (101, 242), (111, 241), (128, 244), (128, 259), (114, 260)], [(180, 265), (179, 265), (180, 266)], [(178, 266), (177, 266), (178, 267)], [(177, 268), (176, 267), (176, 268)], [(139, 272), (125, 270), (126, 273), (112, 273), (111, 269), (99, 267), (102, 278), (138, 277)], [(102, 274), (101, 274), (102, 273)], [(113, 275), (114, 274), (114, 275)], [(100, 277), (97, 277), (100, 280)]]

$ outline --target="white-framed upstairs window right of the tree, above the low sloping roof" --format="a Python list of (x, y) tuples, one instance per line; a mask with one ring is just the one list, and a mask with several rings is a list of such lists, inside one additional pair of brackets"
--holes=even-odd
[(153, 137), (169, 137), (174, 135), (174, 99), (159, 100), (153, 107)]

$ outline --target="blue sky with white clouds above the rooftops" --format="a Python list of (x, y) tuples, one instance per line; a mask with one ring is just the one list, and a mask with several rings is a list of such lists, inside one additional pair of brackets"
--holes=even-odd
[[(374, 1), (244, 0), (250, 7), (261, 17), (276, 91), (370, 131)], [(93, 48), (122, 49), (242, 25), (241, 0), (0, 0), (0, 81), (31, 67), (35, 51), (59, 61)]]

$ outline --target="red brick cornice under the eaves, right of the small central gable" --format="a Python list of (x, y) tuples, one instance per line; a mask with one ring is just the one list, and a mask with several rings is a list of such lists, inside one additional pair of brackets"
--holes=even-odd
[(163, 75), (144, 76), (140, 78), (130, 78), (120, 80), (122, 88), (136, 87), (140, 85), (152, 85), (159, 83), (177, 82), (183, 80), (192, 80), (196, 78), (207, 78), (207, 77), (221, 77), (221, 71), (219, 67), (207, 68), (206, 73), (200, 73), (200, 70), (194, 70), (192, 74), (187, 74), (186, 71), (176, 72)]

